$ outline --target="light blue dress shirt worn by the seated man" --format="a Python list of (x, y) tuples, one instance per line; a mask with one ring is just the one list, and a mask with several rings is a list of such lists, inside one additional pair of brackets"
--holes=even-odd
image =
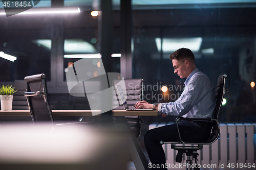
[(209, 78), (195, 68), (184, 84), (180, 98), (175, 102), (159, 104), (158, 111), (188, 118), (212, 118), (216, 95)]

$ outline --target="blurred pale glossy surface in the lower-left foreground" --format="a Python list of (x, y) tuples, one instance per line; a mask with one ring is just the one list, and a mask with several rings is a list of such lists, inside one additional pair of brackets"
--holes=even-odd
[(126, 169), (127, 133), (84, 124), (2, 124), (0, 169)]

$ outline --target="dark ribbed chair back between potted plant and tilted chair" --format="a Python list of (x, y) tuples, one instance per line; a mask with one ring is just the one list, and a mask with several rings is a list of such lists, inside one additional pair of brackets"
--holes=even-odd
[(24, 80), (15, 80), (14, 87), (18, 91), (13, 94), (12, 109), (29, 110), (27, 98), (24, 96), (24, 92), (26, 92), (26, 82)]

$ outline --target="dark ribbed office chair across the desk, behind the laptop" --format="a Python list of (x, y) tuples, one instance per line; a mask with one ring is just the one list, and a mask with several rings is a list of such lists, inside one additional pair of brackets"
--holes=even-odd
[[(120, 80), (114, 80), (114, 84), (117, 84)], [(134, 105), (141, 101), (143, 97), (143, 79), (124, 79), (125, 87), (127, 92), (127, 105), (129, 108), (134, 108)], [(117, 93), (116, 93), (117, 95)], [(118, 98), (117, 98), (118, 99)], [(121, 104), (120, 104), (121, 105)], [(123, 106), (119, 106), (116, 109), (123, 110)], [(138, 139), (141, 133), (141, 125), (143, 124), (143, 119), (139, 116), (125, 116), (129, 126), (131, 127), (135, 137)]]

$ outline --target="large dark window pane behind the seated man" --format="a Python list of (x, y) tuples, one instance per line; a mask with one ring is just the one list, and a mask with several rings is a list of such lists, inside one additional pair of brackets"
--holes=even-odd
[(169, 56), (187, 47), (215, 88), (218, 76), (228, 75), (219, 120), (255, 122), (250, 86), (256, 81), (255, 12), (252, 1), (133, 1), (133, 78), (145, 79), (144, 99), (167, 103), (179, 98), (185, 79), (174, 74)]

